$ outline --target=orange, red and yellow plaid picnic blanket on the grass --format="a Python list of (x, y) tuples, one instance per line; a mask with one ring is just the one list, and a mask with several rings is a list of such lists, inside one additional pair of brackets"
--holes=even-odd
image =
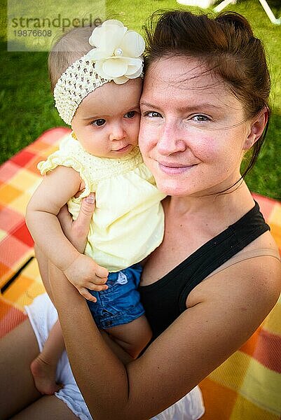
[[(25, 320), (24, 305), (44, 291), (25, 208), (40, 182), (37, 163), (67, 134), (67, 128), (48, 130), (0, 167), (0, 337)], [(254, 198), (281, 251), (281, 203)], [(280, 420), (281, 299), (254, 335), (200, 387), (204, 420)]]

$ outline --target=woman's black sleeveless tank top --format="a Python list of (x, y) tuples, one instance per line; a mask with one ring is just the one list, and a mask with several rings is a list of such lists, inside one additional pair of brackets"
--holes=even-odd
[(270, 228), (256, 203), (247, 214), (200, 246), (162, 279), (140, 286), (139, 293), (153, 339), (186, 310), (186, 297), (200, 281), (267, 230)]

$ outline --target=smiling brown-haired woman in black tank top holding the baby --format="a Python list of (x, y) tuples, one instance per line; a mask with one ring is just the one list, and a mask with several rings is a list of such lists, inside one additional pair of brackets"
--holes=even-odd
[[(95, 420), (200, 418), (203, 406), (199, 396), (188, 399), (191, 390), (252, 335), (280, 294), (277, 246), (240, 175), (245, 153), (253, 151), (250, 166), (259, 154), (270, 113), (261, 41), (234, 13), (213, 20), (167, 12), (148, 35), (139, 146), (169, 197), (164, 240), (146, 261), (139, 288), (153, 331), (142, 356), (116, 357), (83, 297), (50, 267), (71, 368)], [(78, 248), (85, 235), (74, 231), (87, 232), (90, 218), (83, 213), (89, 209), (78, 228), (61, 219)], [(52, 308), (45, 298), (29, 310), (35, 331), (39, 309), (46, 318)], [(15, 419), (74, 418), (71, 402), (72, 412), (34, 390), (28, 363), (38, 344), (30, 323), (6, 338), (1, 359), (12, 343), (17, 348), (2, 364), (10, 370), (1, 372), (7, 384), (1, 418), (16, 412)], [(8, 411), (15, 400), (17, 408)]]

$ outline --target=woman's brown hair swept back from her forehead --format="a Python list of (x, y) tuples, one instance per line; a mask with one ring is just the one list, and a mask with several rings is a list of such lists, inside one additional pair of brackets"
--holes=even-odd
[[(245, 118), (253, 118), (270, 107), (270, 76), (266, 54), (249, 22), (238, 13), (226, 12), (210, 18), (183, 10), (156, 12), (146, 31), (146, 69), (163, 57), (195, 57), (212, 73), (226, 81), (240, 99)], [(252, 155), (242, 176), (254, 166), (268, 130), (252, 146)]]

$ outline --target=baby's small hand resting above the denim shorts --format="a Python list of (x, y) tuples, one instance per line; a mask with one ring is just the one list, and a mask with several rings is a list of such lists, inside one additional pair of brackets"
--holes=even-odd
[(105, 284), (109, 275), (108, 270), (84, 254), (78, 255), (76, 260), (64, 270), (64, 274), (78, 292), (92, 302), (96, 302), (97, 299), (87, 289), (100, 291), (108, 288)]

